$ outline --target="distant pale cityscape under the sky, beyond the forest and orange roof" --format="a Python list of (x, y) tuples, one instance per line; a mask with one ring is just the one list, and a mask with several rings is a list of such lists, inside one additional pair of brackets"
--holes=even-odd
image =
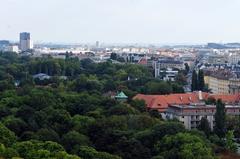
[[(0, 51), (16, 52), (20, 56), (65, 59), (66, 55), (79, 60), (89, 58), (96, 63), (111, 59), (115, 63), (135, 63), (151, 67), (154, 77), (175, 81), (179, 71), (186, 65), (190, 71), (186, 76), (191, 91), (193, 70), (203, 70), (205, 84), (212, 93), (240, 93), (240, 43), (208, 43), (206, 45), (140, 46), (140, 45), (60, 45), (36, 44), (28, 32), (19, 34), (19, 42), (0, 40)], [(115, 55), (115, 56), (112, 56)]]

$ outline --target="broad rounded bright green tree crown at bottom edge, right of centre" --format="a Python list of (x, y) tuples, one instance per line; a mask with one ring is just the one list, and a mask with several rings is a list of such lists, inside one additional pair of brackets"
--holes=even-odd
[(189, 133), (167, 135), (155, 146), (165, 159), (214, 159), (211, 147), (204, 140)]

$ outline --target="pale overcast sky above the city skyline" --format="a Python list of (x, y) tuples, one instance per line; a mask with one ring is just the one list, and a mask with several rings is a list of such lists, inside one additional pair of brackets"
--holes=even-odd
[(35, 42), (240, 42), (240, 0), (0, 0), (0, 39)]

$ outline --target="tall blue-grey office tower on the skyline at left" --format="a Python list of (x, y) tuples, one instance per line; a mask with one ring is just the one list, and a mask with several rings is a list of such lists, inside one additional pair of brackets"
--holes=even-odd
[(26, 32), (20, 33), (19, 48), (21, 51), (27, 51), (33, 48), (30, 33), (26, 33)]

